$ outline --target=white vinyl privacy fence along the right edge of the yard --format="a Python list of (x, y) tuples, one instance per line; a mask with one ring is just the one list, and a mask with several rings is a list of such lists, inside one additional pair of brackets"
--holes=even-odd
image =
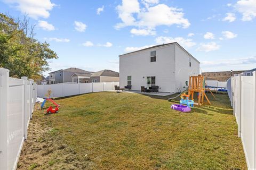
[(248, 169), (256, 169), (256, 72), (235, 74), (228, 80), (228, 94), (238, 125)]

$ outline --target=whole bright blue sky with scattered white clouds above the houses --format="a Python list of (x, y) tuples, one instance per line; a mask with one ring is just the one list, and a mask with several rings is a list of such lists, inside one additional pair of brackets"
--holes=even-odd
[(203, 72), (256, 67), (256, 0), (0, 0), (0, 12), (28, 14), (36, 38), (59, 56), (52, 71), (118, 71), (118, 55), (173, 41)]

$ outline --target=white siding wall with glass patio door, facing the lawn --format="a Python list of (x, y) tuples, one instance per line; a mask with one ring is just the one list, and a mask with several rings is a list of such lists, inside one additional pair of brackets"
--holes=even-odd
[[(150, 52), (156, 50), (156, 62), (150, 62)], [(132, 90), (147, 87), (147, 77), (156, 77), (159, 91), (175, 92), (174, 45), (156, 47), (119, 57), (120, 87), (132, 76)], [(144, 77), (144, 78), (143, 78)]]

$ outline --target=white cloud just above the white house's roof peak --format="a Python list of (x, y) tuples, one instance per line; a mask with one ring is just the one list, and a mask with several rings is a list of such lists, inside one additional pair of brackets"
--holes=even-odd
[(160, 36), (160, 37), (157, 37), (155, 39), (155, 41), (156, 41), (157, 44), (167, 44), (167, 43), (177, 42), (183, 47), (193, 47), (193, 46), (196, 45), (196, 43), (193, 42), (191, 39), (185, 39), (185, 38), (182, 38), (182, 37), (172, 38), (172, 37)]

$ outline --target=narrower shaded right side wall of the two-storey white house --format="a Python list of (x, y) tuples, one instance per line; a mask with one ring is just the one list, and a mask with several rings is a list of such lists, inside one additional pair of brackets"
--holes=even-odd
[[(189, 66), (191, 62), (191, 67)], [(199, 63), (186, 53), (179, 45), (175, 44), (175, 90), (183, 89), (189, 76), (199, 74)]]

